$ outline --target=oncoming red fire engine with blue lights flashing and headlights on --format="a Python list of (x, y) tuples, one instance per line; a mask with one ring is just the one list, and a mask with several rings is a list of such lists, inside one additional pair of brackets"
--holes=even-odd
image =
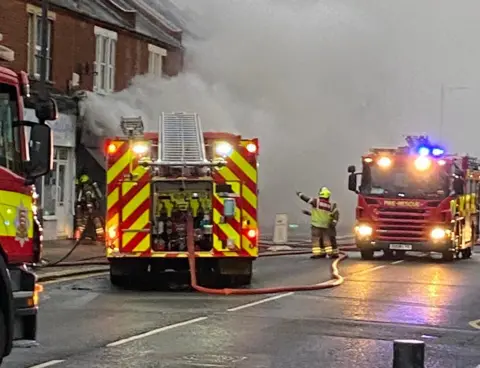
[[(382, 250), (470, 258), (479, 234), (479, 162), (451, 155), (427, 136), (407, 145), (373, 148), (362, 168), (349, 166), (348, 189), (357, 194), (355, 238), (363, 259)], [(361, 177), (357, 187), (357, 177)]]

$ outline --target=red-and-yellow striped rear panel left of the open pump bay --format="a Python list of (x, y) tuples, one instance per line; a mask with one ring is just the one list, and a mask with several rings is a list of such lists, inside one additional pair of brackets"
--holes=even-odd
[(120, 190), (120, 251), (141, 253), (150, 248), (150, 184), (125, 181)]

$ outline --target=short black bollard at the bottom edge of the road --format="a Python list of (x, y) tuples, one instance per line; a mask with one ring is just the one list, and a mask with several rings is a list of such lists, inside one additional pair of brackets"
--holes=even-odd
[(425, 368), (425, 343), (419, 340), (395, 340), (393, 368)]

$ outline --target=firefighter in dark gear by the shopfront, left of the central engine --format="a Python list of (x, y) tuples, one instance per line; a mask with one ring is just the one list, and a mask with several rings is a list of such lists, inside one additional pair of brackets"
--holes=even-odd
[(75, 179), (75, 187), (77, 191), (75, 239), (80, 239), (90, 221), (92, 221), (95, 228), (95, 236), (92, 236), (92, 238), (103, 240), (105, 238), (105, 230), (103, 220), (99, 215), (100, 199), (103, 197), (102, 192), (98, 188), (97, 183), (90, 179), (85, 169), (82, 169), (77, 179)]

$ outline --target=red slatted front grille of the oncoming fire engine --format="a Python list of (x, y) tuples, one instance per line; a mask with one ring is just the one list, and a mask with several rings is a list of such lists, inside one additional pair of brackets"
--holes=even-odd
[(376, 238), (379, 241), (424, 241), (427, 239), (428, 216), (428, 209), (380, 207)]

